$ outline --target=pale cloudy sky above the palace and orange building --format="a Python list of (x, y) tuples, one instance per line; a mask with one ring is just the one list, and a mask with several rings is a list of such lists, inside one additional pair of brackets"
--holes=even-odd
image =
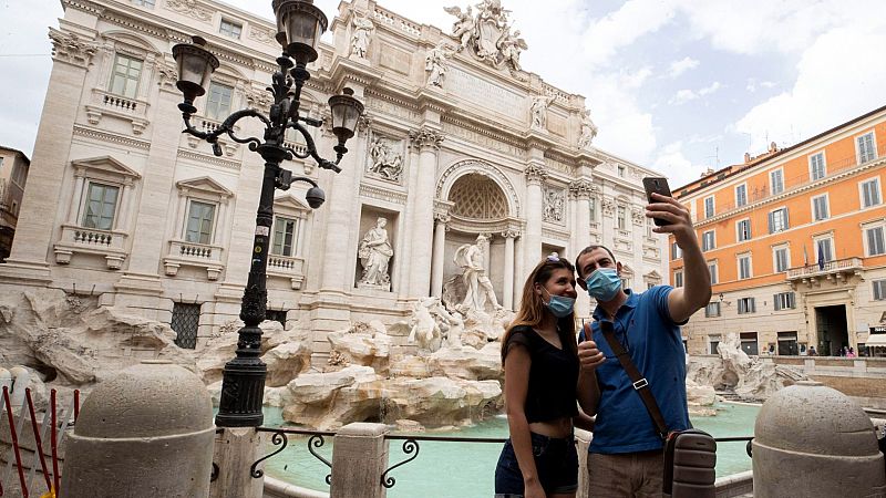
[[(157, 0), (161, 4), (163, 0)], [(476, 0), (474, 0), (476, 2)], [(270, 19), (270, 0), (228, 3)], [(316, 0), (331, 18), (338, 0)], [(672, 186), (886, 103), (880, 0), (503, 0), (524, 69), (588, 98), (595, 145)], [(449, 30), (464, 0), (380, 0)], [(0, 0), (0, 144), (31, 155), (56, 0)]]

